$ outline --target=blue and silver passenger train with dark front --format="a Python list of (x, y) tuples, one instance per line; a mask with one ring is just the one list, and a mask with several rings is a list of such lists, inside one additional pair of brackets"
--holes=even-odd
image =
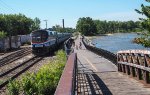
[(44, 55), (55, 50), (61, 43), (71, 37), (71, 33), (60, 33), (48, 29), (31, 32), (31, 47), (34, 55)]

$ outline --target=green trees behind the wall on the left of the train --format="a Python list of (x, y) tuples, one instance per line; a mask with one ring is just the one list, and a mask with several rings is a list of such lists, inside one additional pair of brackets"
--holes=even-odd
[(2, 36), (25, 35), (39, 28), (40, 20), (37, 17), (31, 19), (23, 14), (0, 14), (0, 32)]

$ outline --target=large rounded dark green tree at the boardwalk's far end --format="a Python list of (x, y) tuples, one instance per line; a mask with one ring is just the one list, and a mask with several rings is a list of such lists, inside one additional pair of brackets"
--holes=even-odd
[(78, 32), (88, 36), (97, 34), (96, 25), (90, 17), (79, 18), (76, 29)]

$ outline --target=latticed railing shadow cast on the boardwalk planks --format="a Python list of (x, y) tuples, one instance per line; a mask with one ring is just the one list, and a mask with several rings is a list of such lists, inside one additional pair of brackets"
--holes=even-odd
[[(103, 80), (78, 59), (77, 95), (113, 95)], [(83, 90), (81, 90), (83, 89)]]

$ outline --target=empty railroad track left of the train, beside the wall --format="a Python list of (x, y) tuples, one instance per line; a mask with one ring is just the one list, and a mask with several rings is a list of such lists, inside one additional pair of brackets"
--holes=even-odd
[(30, 53), (31, 53), (31, 48), (29, 48), (29, 47), (21, 49), (18, 52), (12, 53), (12, 54), (0, 59), (0, 67), (4, 66), (6, 64), (9, 64), (17, 59), (20, 59)]

